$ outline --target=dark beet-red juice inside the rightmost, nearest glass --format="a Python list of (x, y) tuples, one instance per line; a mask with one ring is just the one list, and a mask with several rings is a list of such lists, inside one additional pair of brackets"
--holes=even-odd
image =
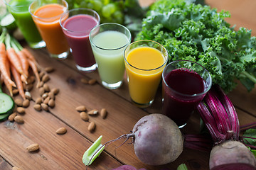
[[(180, 126), (187, 123), (191, 113), (203, 99), (205, 91), (202, 77), (190, 69), (174, 69), (164, 77), (164, 115)], [(176, 93), (178, 92), (178, 93)]]

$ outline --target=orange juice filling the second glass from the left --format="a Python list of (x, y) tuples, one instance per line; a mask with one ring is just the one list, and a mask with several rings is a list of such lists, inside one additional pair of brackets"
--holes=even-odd
[(46, 4), (36, 9), (33, 17), (48, 51), (58, 55), (69, 50), (68, 41), (65, 39), (60, 27), (60, 16), (65, 7), (60, 4)]

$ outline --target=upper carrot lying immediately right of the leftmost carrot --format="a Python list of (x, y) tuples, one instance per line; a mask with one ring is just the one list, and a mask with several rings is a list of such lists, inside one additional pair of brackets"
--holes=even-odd
[(16, 53), (16, 51), (14, 50), (13, 47), (9, 47), (6, 50), (6, 55), (9, 59), (9, 61), (11, 62), (11, 64), (16, 68), (18, 73), (23, 75), (24, 77), (26, 77), (26, 75), (23, 73), (23, 69), (22, 69), (22, 66), (21, 66), (21, 61), (19, 60), (18, 55), (17, 55), (17, 53)]

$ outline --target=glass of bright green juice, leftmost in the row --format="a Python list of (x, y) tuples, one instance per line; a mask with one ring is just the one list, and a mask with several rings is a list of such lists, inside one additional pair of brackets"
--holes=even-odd
[(32, 48), (46, 47), (46, 42), (42, 40), (31, 14), (28, 12), (28, 6), (32, 2), (33, 0), (5, 0), (9, 12), (14, 16), (28, 45)]

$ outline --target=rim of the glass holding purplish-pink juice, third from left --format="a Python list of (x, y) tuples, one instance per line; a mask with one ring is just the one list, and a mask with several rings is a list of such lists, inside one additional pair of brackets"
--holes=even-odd
[[(90, 8), (73, 8), (73, 9), (71, 9), (71, 10), (65, 11), (65, 12), (62, 14), (62, 16), (60, 17), (60, 26), (61, 26), (61, 28), (63, 28), (63, 30), (68, 31), (68, 32), (72, 32), (72, 33), (83, 33), (83, 32), (86, 32), (86, 31), (88, 31), (88, 30), (92, 30), (92, 29), (94, 28), (94, 27), (93, 27), (93, 28), (90, 28), (90, 29), (88, 29), (88, 30), (76, 31), (76, 30), (69, 30), (68, 28), (65, 28), (65, 27), (63, 26), (62, 23), (65, 23), (65, 21), (62, 22), (63, 16), (64, 16), (65, 14), (67, 14), (67, 13), (70, 13), (70, 12), (73, 12), (73, 11), (79, 11), (79, 10), (82, 10), (82, 11), (90, 11), (90, 12), (96, 14), (97, 18), (99, 18), (99, 19), (97, 20), (96, 17), (94, 17), (94, 18), (96, 18), (96, 20), (97, 20), (97, 25), (96, 25), (96, 26), (99, 26), (99, 24), (100, 24), (100, 15), (99, 15), (99, 13), (97, 13), (96, 11), (94, 11), (94, 10), (92, 10), (92, 9), (90, 9)], [(80, 14), (85, 14), (85, 13), (79, 13), (78, 15), (80, 15)], [(89, 14), (85, 14), (85, 15), (89, 15)]]

